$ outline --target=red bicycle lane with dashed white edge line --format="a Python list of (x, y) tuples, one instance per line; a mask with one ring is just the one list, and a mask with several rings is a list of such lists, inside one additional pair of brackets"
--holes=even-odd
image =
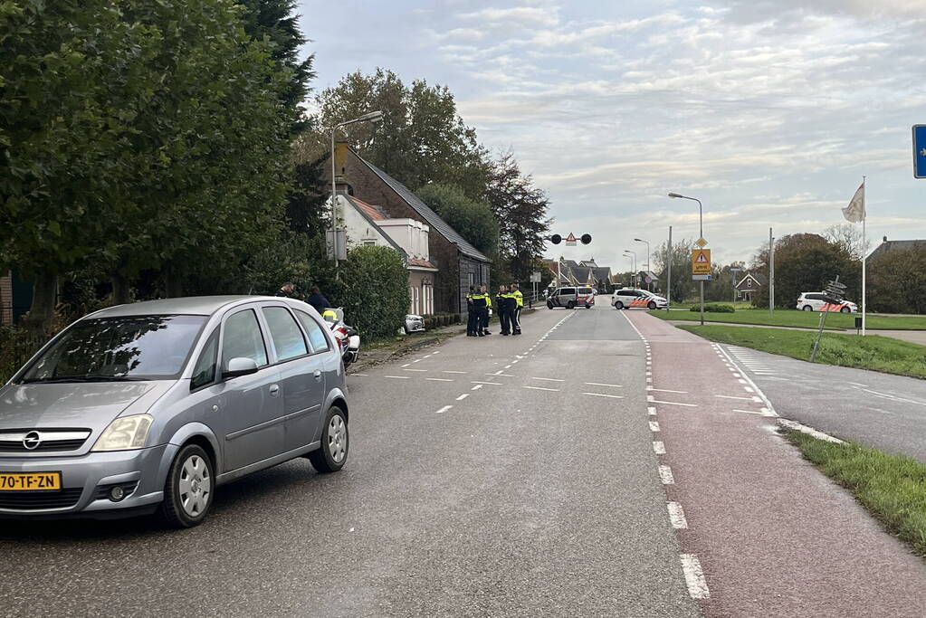
[(707, 616), (926, 615), (926, 564), (775, 432), (719, 346), (623, 315), (647, 344), (654, 450)]

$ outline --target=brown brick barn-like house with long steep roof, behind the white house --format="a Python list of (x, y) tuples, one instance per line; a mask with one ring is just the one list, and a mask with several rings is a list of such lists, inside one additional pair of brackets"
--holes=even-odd
[[(433, 273), (434, 311), (466, 313), (469, 286), (489, 285), (489, 258), (404, 184), (365, 161), (345, 142), (338, 143), (335, 149), (335, 168), (335, 181), (344, 184), (344, 192), (349, 196), (376, 204), (389, 219), (412, 219), (428, 226), (428, 261), (437, 268)], [(326, 172), (331, 174), (327, 166)], [(328, 181), (331, 182), (330, 176)], [(343, 216), (339, 213), (338, 218), (341, 220)]]

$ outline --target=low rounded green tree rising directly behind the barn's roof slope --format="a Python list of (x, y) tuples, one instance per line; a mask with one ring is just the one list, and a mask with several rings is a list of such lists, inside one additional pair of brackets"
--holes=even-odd
[(488, 204), (471, 200), (458, 187), (446, 184), (429, 184), (419, 189), (418, 196), (483, 254), (498, 250), (498, 221)]

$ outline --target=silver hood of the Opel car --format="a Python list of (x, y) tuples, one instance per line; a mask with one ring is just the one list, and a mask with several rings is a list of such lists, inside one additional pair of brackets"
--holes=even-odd
[(0, 389), (0, 428), (87, 427), (94, 435), (114, 418), (148, 408), (174, 384), (150, 382), (68, 382), (7, 384)]

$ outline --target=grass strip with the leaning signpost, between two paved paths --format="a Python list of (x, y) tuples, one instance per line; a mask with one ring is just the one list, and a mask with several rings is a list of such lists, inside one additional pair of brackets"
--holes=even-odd
[[(657, 312), (650, 312), (655, 314)], [(718, 324), (682, 324), (679, 328), (705, 339), (810, 360), (817, 333), (784, 328), (744, 328)], [(817, 362), (870, 369), (898, 376), (926, 377), (926, 346), (890, 337), (857, 337), (827, 332), (820, 340)]]

